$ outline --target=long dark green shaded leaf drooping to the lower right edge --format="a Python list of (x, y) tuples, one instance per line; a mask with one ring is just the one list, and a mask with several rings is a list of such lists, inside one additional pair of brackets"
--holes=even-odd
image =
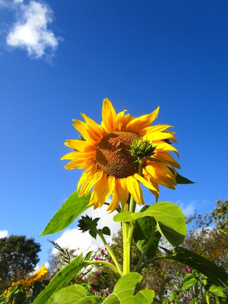
[[(225, 288), (228, 287), (228, 273), (197, 253), (193, 253), (185, 248), (177, 247), (175, 248), (174, 254), (165, 255), (162, 259), (163, 258), (188, 265), (188, 267), (206, 275), (215, 285)], [(160, 258), (154, 258), (153, 260), (157, 259)]]

